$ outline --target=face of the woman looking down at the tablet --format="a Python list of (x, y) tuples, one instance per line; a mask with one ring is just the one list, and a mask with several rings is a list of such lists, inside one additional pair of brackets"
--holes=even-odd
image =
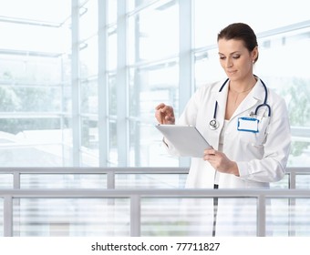
[(242, 40), (218, 41), (220, 63), (231, 81), (242, 81), (253, 76), (253, 61), (258, 54), (257, 46), (252, 52), (243, 45)]

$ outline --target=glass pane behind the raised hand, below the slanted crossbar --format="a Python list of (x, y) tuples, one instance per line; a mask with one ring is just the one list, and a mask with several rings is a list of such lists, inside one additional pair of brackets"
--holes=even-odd
[(131, 69), (129, 80), (130, 151), (135, 151), (135, 157), (130, 157), (130, 165), (176, 164), (177, 158), (173, 160), (164, 155), (165, 149), (160, 147), (162, 137), (154, 127), (154, 109), (158, 104), (166, 102), (178, 108), (179, 69), (176, 62)]

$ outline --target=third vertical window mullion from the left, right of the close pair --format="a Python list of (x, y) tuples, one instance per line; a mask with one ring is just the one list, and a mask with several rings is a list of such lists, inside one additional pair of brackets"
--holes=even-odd
[(129, 128), (128, 128), (128, 83), (126, 69), (126, 42), (127, 42), (127, 17), (126, 1), (118, 0), (118, 21), (117, 21), (117, 142), (118, 142), (118, 165), (128, 165), (129, 154)]

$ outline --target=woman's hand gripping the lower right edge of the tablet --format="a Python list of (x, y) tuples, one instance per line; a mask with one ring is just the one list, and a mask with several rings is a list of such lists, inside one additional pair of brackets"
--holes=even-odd
[(237, 163), (227, 158), (221, 151), (214, 148), (205, 149), (203, 160), (208, 161), (219, 172), (239, 176)]

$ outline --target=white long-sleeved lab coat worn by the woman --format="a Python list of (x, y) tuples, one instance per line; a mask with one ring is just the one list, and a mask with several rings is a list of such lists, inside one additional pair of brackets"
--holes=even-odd
[[(196, 126), (202, 136), (218, 149), (220, 133), (223, 127), (226, 99), (229, 84), (222, 87), (222, 82), (213, 83), (200, 87), (191, 97), (186, 105), (181, 117), (176, 124)], [(279, 97), (268, 89), (267, 104), (271, 107), (271, 117), (268, 117), (267, 107), (260, 107), (257, 118), (259, 119), (258, 133), (238, 131), (238, 117), (250, 117), (250, 113), (255, 108), (263, 104), (265, 91), (262, 82), (258, 79), (252, 91), (244, 98), (240, 106), (235, 110), (233, 117), (229, 120), (223, 140), (222, 152), (235, 161), (238, 165), (240, 177), (233, 174), (217, 173), (219, 189), (247, 189), (247, 188), (268, 188), (270, 182), (278, 181), (284, 177), (285, 166), (289, 155), (291, 135), (288, 120), (287, 108), (282, 97)], [(220, 127), (216, 130), (209, 128), (209, 122), (213, 118), (215, 102), (218, 102), (216, 119)], [(178, 156), (178, 151), (167, 141), (170, 154)], [(202, 158), (191, 158), (191, 168), (189, 171), (186, 187), (212, 189), (214, 185), (215, 169)], [(255, 235), (255, 205), (250, 205), (246, 199), (243, 202), (238, 199), (238, 206), (235, 201), (219, 199), (219, 210), (217, 217), (217, 235)], [(246, 208), (242, 209), (242, 205)], [(232, 209), (233, 206), (235, 209)], [(249, 209), (250, 207), (250, 209)], [(212, 223), (212, 207), (205, 206), (205, 220), (208, 223), (200, 223), (195, 227), (195, 234), (198, 233), (199, 226), (203, 226), (202, 234), (205, 235), (211, 227), (206, 226)], [(221, 210), (222, 208), (222, 210)], [(229, 209), (231, 208), (231, 209)], [(209, 212), (207, 212), (209, 211)], [(254, 213), (254, 215), (249, 216)], [(228, 215), (230, 214), (230, 215)], [(238, 215), (238, 217), (236, 217)], [(244, 219), (253, 219), (251, 233), (246, 232), (243, 223)], [(223, 224), (222, 224), (223, 222)], [(230, 222), (232, 223), (231, 226)], [(221, 227), (222, 224), (222, 227)], [(236, 226), (243, 228), (239, 231)], [(197, 228), (198, 227), (198, 228)], [(248, 228), (249, 230), (249, 228)], [(208, 230), (209, 231), (209, 230)]]

